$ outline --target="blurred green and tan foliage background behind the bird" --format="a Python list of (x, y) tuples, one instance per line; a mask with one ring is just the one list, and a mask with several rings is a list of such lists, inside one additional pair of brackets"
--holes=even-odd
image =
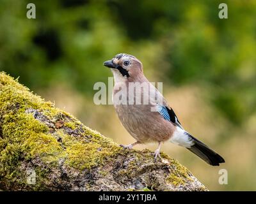
[[(36, 19), (26, 18), (35, 3)], [(228, 19), (218, 18), (227, 3)], [(256, 190), (256, 1), (0, 0), (0, 69), (118, 143), (134, 139), (93, 85), (118, 53), (143, 62), (182, 126), (226, 160), (208, 166), (165, 143), (210, 190)], [(156, 144), (137, 149), (156, 149)], [(218, 171), (228, 171), (220, 185)]]

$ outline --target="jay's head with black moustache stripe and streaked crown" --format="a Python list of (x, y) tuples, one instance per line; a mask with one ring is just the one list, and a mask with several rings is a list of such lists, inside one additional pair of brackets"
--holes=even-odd
[(111, 68), (116, 81), (135, 80), (136, 77), (143, 75), (142, 63), (129, 54), (117, 54), (103, 65)]

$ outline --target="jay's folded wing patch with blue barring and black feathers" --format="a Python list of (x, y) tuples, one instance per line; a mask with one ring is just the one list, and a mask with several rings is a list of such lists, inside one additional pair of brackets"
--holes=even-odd
[(179, 128), (183, 129), (177, 118), (177, 115), (173, 112), (172, 108), (157, 104), (157, 112), (159, 112), (164, 119), (169, 120)]

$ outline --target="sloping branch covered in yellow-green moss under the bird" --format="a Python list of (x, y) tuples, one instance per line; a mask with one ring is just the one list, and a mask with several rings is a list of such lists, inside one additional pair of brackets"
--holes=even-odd
[[(206, 191), (175, 159), (123, 150), (0, 73), (0, 188)], [(30, 179), (30, 180), (29, 180)]]

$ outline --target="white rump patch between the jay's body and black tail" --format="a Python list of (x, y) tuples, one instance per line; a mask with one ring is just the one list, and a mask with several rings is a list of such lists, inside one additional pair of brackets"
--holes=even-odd
[(181, 129), (179, 127), (176, 128), (175, 132), (170, 138), (170, 142), (186, 148), (189, 148), (195, 144), (193, 138), (191, 138), (188, 133), (184, 131), (184, 129)]

